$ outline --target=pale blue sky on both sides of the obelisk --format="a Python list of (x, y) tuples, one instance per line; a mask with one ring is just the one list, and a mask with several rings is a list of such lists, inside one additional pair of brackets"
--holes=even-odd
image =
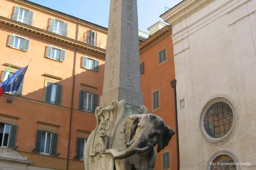
[[(34, 3), (64, 12), (86, 21), (108, 27), (110, 0), (29, 0)], [(162, 21), (164, 7), (172, 8), (181, 0), (137, 0), (139, 29)]]

